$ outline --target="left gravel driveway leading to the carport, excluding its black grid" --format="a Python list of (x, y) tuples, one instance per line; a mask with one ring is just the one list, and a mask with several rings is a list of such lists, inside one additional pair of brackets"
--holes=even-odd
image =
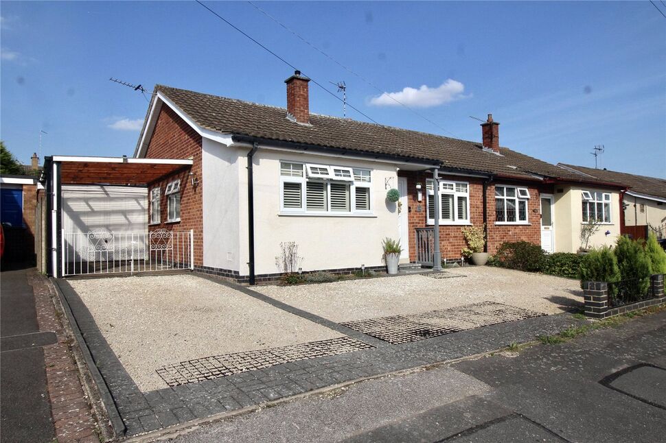
[(162, 366), (342, 337), (239, 291), (189, 275), (69, 280), (143, 392)]

